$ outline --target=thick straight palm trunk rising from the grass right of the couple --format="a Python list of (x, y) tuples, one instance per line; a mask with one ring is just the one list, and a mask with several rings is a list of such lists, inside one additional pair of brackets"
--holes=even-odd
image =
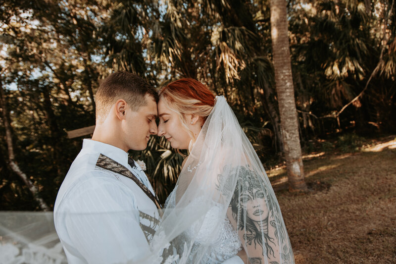
[(304, 181), (301, 146), (298, 134), (286, 0), (271, 0), (270, 10), (275, 82), (289, 189), (290, 191), (305, 191), (307, 187)]

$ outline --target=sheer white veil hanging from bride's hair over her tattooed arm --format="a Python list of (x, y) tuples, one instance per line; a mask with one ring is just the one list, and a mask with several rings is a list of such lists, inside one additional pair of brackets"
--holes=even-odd
[(264, 167), (223, 96), (216, 97), (175, 188), (168, 198), (175, 203), (164, 211), (147, 263), (200, 263), (225, 218), (250, 263), (294, 263)]

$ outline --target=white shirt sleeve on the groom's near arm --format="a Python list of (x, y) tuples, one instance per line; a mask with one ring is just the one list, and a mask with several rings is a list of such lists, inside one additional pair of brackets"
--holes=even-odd
[(66, 200), (64, 223), (73, 249), (93, 264), (138, 261), (149, 250), (134, 194), (113, 175), (97, 174), (75, 186)]

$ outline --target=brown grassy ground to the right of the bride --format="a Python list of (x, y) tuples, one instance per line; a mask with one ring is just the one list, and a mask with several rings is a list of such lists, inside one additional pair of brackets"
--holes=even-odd
[(297, 264), (396, 263), (396, 140), (304, 160), (310, 192), (285, 190), (268, 172)]

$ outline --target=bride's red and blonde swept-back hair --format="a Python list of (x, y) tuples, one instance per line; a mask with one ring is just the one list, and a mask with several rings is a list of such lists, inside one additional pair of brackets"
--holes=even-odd
[[(205, 85), (191, 78), (173, 81), (162, 87), (159, 90), (159, 100), (161, 99), (164, 99), (165, 106), (179, 114), (180, 123), (194, 139), (195, 136), (188, 127), (186, 115), (198, 115), (203, 125), (214, 106), (212, 92)], [(190, 147), (189, 151), (191, 151)]]

